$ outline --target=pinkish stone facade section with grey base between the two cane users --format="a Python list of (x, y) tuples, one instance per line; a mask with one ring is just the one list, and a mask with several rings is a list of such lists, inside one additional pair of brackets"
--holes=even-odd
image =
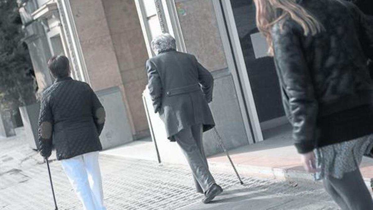
[(141, 99), (148, 55), (134, 1), (26, 0), (20, 13), (41, 92), (53, 83), (48, 59), (66, 55), (72, 77), (89, 83), (106, 107), (104, 147), (149, 135)]

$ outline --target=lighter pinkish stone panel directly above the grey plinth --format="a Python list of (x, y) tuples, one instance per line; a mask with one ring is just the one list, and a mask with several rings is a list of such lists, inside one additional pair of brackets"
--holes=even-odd
[(101, 0), (70, 1), (70, 5), (91, 86), (124, 89)]

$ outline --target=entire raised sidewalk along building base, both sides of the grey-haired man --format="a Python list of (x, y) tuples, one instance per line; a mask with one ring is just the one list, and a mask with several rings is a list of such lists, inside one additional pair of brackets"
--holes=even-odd
[[(186, 164), (186, 160), (179, 149), (169, 152), (173, 152), (173, 157), (175, 157), (172, 163)], [(150, 139), (131, 142), (103, 153), (157, 161), (154, 144)], [(313, 182), (313, 175), (306, 173), (300, 164), (299, 154), (292, 142), (291, 129), (287, 126), (267, 132), (266, 140), (263, 142), (230, 150), (229, 154), (238, 172), (242, 175)], [(208, 161), (212, 168), (233, 172), (232, 166), (224, 153), (209, 157)], [(373, 159), (364, 157), (360, 169), (366, 185), (372, 191)]]

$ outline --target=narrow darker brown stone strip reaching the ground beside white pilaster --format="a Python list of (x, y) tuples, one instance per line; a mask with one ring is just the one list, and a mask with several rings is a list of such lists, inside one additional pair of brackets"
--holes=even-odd
[(116, 58), (119, 64), (135, 138), (148, 136), (148, 124), (142, 105), (142, 91), (147, 84), (145, 61), (148, 58), (134, 0), (104, 0), (103, 6)]

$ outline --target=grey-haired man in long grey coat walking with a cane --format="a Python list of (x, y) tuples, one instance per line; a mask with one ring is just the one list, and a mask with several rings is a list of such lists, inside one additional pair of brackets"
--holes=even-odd
[(203, 132), (215, 126), (208, 105), (213, 77), (195, 56), (177, 52), (170, 34), (154, 38), (151, 47), (157, 56), (146, 67), (154, 110), (164, 122), (167, 138), (184, 152), (197, 192), (205, 195), (203, 203), (209, 203), (223, 191), (209, 171), (202, 142)]

